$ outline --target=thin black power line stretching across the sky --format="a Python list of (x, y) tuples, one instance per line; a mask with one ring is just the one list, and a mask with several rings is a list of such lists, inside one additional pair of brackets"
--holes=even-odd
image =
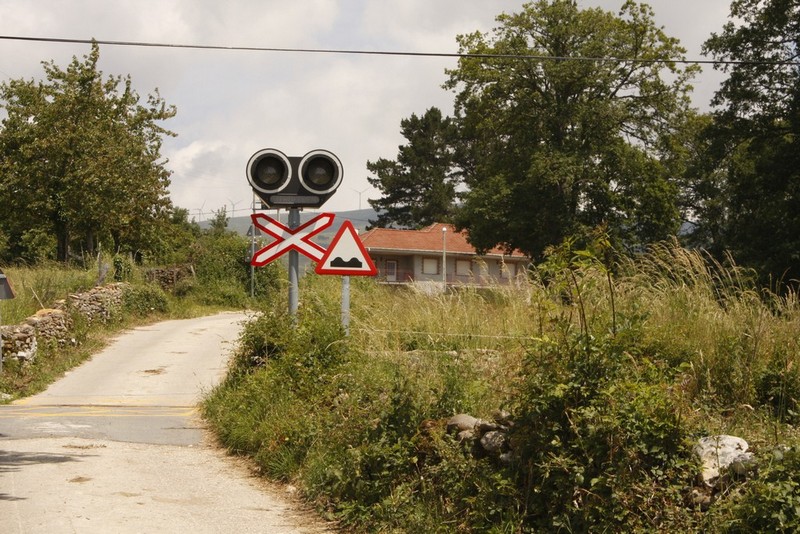
[(390, 50), (346, 50), (328, 48), (283, 48), (264, 46), (222, 46), (204, 44), (179, 44), (157, 43), (145, 41), (110, 41), (100, 39), (67, 39), (61, 37), (29, 37), (21, 35), (0, 35), (0, 40), (29, 41), (43, 43), (64, 44), (92, 44), (108, 46), (130, 46), (143, 48), (177, 48), (189, 50), (221, 50), (238, 52), (273, 52), (291, 54), (336, 54), (336, 55), (362, 55), (362, 56), (404, 56), (404, 57), (430, 57), (430, 58), (475, 58), (475, 59), (519, 59), (533, 61), (584, 61), (605, 63), (679, 63), (683, 65), (775, 65), (775, 66), (800, 66), (800, 62), (786, 61), (744, 61), (744, 60), (714, 60), (714, 59), (645, 59), (645, 58), (618, 58), (618, 57), (586, 57), (586, 56), (541, 56), (536, 54), (474, 54), (456, 52), (408, 52)]

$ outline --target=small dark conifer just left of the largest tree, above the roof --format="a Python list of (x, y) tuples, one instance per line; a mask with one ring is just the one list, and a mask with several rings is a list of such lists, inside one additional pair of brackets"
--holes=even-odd
[(367, 180), (383, 194), (369, 201), (378, 212), (377, 220), (370, 223), (420, 228), (449, 221), (458, 183), (455, 124), (434, 107), (422, 117), (412, 114), (403, 119), (400, 128), (408, 143), (399, 147), (397, 160), (367, 162), (367, 169), (375, 174)]

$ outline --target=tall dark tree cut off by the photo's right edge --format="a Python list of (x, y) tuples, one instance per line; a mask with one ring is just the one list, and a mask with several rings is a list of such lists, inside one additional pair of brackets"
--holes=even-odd
[(719, 245), (766, 279), (800, 279), (800, 4), (735, 0), (704, 50), (728, 73), (713, 104)]

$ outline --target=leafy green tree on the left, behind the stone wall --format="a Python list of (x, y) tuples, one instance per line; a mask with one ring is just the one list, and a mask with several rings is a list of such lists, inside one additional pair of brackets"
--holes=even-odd
[(101, 240), (141, 253), (168, 220), (160, 149), (174, 134), (158, 122), (175, 109), (157, 91), (141, 104), (130, 77), (104, 80), (99, 57), (93, 43), (66, 70), (44, 63), (45, 81), (0, 85), (0, 226), (12, 242), (33, 228), (55, 235), (61, 261)]

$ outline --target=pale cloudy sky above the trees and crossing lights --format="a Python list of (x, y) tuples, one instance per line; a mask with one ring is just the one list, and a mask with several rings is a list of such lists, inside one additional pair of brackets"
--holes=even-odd
[[(617, 12), (623, 0), (579, 0)], [(727, 20), (729, 0), (650, 0), (656, 23), (701, 55)], [(0, 0), (0, 35), (222, 47), (456, 53), (456, 36), (489, 32), (522, 0)], [(41, 79), (42, 61), (66, 67), (88, 44), (0, 40), (0, 80)], [(432, 106), (452, 113), (442, 88), (454, 58), (309, 54), (102, 45), (100, 70), (130, 75), (143, 100), (156, 89), (177, 108), (177, 133), (162, 154), (170, 197), (195, 220), (252, 209), (250, 156), (325, 149), (344, 178), (322, 211), (368, 208), (380, 193), (367, 161), (396, 159), (400, 121)], [(693, 81), (693, 104), (709, 109), (722, 80), (710, 65)]]

